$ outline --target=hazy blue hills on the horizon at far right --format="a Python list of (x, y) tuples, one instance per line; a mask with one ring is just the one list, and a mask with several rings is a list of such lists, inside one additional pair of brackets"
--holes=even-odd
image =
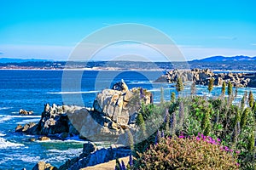
[(213, 56), (205, 59), (194, 59), (192, 61), (220, 62), (220, 61), (252, 61), (252, 60), (256, 60), (256, 56), (255, 57), (248, 57), (243, 55), (233, 56), (233, 57)]

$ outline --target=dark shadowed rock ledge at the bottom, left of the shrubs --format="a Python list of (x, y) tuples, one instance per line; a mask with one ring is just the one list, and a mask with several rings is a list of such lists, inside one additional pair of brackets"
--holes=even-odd
[(116, 158), (130, 156), (131, 149), (129, 147), (118, 147), (118, 145), (112, 145), (109, 148), (97, 148), (92, 143), (84, 144), (83, 153), (68, 160), (64, 165), (59, 167), (59, 170), (76, 170), (83, 167), (90, 167), (96, 164), (112, 161)]

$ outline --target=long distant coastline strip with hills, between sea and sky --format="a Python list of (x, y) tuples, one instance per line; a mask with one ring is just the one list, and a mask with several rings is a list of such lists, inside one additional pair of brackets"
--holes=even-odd
[(0, 59), (1, 70), (63, 70), (63, 69), (82, 69), (82, 70), (140, 70), (140, 71), (166, 71), (182, 69), (186, 65), (190, 69), (210, 69), (212, 71), (256, 71), (256, 56), (212, 56), (205, 59), (194, 59), (188, 62), (144, 62), (144, 61), (53, 61), (48, 59)]

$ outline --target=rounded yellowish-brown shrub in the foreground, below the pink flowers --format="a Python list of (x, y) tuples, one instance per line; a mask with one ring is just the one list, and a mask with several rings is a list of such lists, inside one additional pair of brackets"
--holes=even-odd
[(236, 152), (202, 134), (165, 138), (139, 154), (136, 169), (238, 169)]

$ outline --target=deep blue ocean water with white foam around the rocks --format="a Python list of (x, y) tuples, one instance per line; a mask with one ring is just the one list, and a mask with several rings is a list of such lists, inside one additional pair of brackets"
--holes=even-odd
[[(84, 71), (82, 77), (78, 77), (78, 71), (69, 71), (68, 77), (62, 77), (62, 73), (0, 71), (0, 169), (32, 169), (38, 161), (48, 161), (59, 167), (67, 159), (79, 156), (84, 141), (78, 137), (66, 141), (31, 142), (29, 139), (37, 137), (15, 133), (18, 124), (38, 122), (46, 103), (90, 107), (99, 91), (122, 79), (129, 88), (150, 90), (154, 94), (154, 102), (160, 101), (161, 87), (164, 88), (166, 100), (170, 99), (172, 92), (176, 92), (173, 84), (153, 82), (163, 74), (160, 71)], [(76, 80), (81, 82), (79, 88), (72, 86)], [(63, 89), (63, 83), (71, 84), (70, 88)], [(253, 90), (256, 94), (255, 88), (239, 88), (238, 99), (241, 99), (244, 90)], [(210, 95), (219, 95), (220, 92), (221, 87), (217, 87)], [(185, 87), (184, 94), (189, 94), (189, 86)], [(197, 86), (197, 94), (209, 95), (207, 87)], [(34, 114), (20, 116), (20, 109), (32, 110)]]

